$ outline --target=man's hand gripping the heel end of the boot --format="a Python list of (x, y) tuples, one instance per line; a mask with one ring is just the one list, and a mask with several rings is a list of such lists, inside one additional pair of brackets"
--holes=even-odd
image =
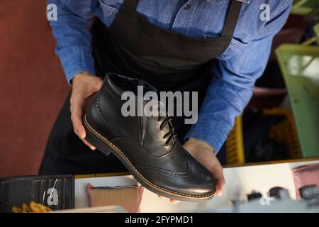
[(91, 148), (91, 150), (95, 150), (95, 147), (84, 139), (86, 133), (82, 123), (82, 116), (86, 99), (98, 92), (102, 83), (103, 80), (101, 78), (94, 77), (86, 72), (79, 73), (72, 79), (70, 111), (73, 130), (74, 133), (77, 134), (83, 141), (83, 143)]

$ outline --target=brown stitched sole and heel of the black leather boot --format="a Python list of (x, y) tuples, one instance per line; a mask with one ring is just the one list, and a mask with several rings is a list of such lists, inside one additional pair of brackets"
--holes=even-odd
[(135, 179), (142, 184), (142, 187), (145, 187), (146, 189), (150, 190), (151, 192), (154, 192), (155, 194), (159, 194), (165, 197), (168, 197), (169, 199), (177, 199), (179, 201), (205, 201), (208, 199), (211, 199), (215, 192), (211, 192), (207, 195), (192, 195), (192, 194), (183, 194), (180, 192), (174, 192), (169, 189), (164, 189), (162, 187), (157, 186), (156, 184), (153, 184), (152, 182), (148, 181), (140, 175), (140, 172), (135, 169), (135, 167), (132, 165), (130, 160), (123, 154), (123, 152), (117, 148), (115, 145), (113, 145), (110, 141), (108, 141), (106, 138), (103, 137), (100, 133), (98, 133), (94, 128), (92, 128), (89, 123), (86, 121), (86, 114), (83, 117), (84, 122), (84, 128), (86, 129), (86, 137), (85, 139), (94, 145), (101, 153), (105, 155), (109, 155), (112, 153), (115, 155), (122, 163), (125, 165), (125, 167), (128, 169), (131, 175), (135, 177)]

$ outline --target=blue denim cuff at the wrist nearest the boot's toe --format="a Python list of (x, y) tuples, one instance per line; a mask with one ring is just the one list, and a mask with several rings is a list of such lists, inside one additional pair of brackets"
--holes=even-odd
[(217, 155), (228, 135), (227, 132), (222, 131), (219, 122), (217, 120), (200, 118), (199, 116), (197, 123), (191, 126), (184, 139), (194, 138), (202, 140), (211, 145)]

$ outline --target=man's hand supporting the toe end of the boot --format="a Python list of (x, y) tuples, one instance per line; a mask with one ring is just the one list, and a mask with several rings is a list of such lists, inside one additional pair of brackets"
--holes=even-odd
[[(220, 165), (217, 157), (213, 153), (213, 148), (207, 143), (196, 140), (194, 138), (190, 138), (184, 143), (183, 147), (196, 159), (201, 163), (204, 167), (206, 167), (211, 175), (216, 178), (216, 195), (221, 196), (223, 194), (223, 187), (225, 185), (225, 179), (223, 175), (223, 167)], [(162, 198), (162, 196), (159, 196)], [(179, 201), (176, 199), (171, 199), (172, 204), (177, 204)]]

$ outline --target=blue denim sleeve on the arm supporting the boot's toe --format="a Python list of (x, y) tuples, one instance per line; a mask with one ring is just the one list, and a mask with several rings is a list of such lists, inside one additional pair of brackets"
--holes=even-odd
[(234, 126), (235, 117), (252, 97), (254, 83), (267, 65), (274, 35), (284, 26), (290, 8), (291, 4), (287, 4), (270, 21), (259, 21), (259, 29), (249, 43), (233, 39), (230, 48), (218, 57), (198, 121), (186, 138), (203, 140), (218, 153)]

